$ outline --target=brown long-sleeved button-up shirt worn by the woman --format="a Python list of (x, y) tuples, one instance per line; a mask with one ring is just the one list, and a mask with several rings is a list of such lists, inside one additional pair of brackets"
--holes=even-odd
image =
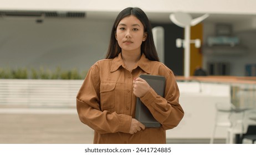
[[(132, 81), (140, 74), (166, 78), (165, 98), (151, 88), (140, 100), (161, 123), (130, 135), (131, 118), (135, 118), (136, 96)], [(124, 68), (121, 54), (114, 59), (99, 60), (91, 66), (76, 97), (81, 122), (93, 128), (94, 143), (166, 143), (166, 130), (181, 121), (184, 112), (179, 104), (180, 91), (172, 71), (142, 54), (132, 73)]]

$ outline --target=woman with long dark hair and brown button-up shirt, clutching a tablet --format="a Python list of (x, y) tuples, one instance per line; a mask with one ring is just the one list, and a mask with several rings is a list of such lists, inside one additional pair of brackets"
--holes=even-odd
[[(165, 97), (139, 75), (165, 76)], [(81, 122), (93, 128), (94, 143), (166, 143), (166, 130), (184, 112), (172, 71), (158, 60), (151, 25), (140, 8), (126, 8), (112, 27), (106, 59), (91, 66), (76, 97)], [(135, 119), (136, 97), (161, 123), (146, 128)]]

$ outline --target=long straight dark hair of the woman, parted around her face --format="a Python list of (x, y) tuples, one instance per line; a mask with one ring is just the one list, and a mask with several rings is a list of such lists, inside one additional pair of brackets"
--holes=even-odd
[(146, 58), (152, 61), (159, 61), (156, 47), (153, 42), (153, 34), (152, 34), (152, 28), (149, 21), (149, 18), (147, 18), (146, 14), (142, 9), (140, 8), (125, 8), (122, 10), (118, 16), (116, 17), (116, 20), (114, 22), (114, 25), (112, 27), (111, 37), (110, 37), (110, 43), (109, 43), (109, 49), (107, 50), (106, 59), (112, 59), (118, 56), (119, 53), (121, 53), (121, 48), (119, 44), (117, 43), (117, 40), (115, 38), (116, 34), (116, 28), (119, 22), (128, 16), (135, 16), (140, 20), (140, 22), (144, 25), (144, 31), (147, 33), (147, 38), (144, 42), (141, 44), (141, 53), (144, 53)]

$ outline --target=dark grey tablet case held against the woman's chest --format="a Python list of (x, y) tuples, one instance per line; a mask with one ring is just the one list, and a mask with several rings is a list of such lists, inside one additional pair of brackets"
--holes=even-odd
[[(160, 95), (165, 95), (165, 77), (158, 75), (142, 74), (140, 77), (147, 81), (155, 92)], [(149, 109), (137, 97), (136, 101), (136, 120), (140, 121), (146, 127), (160, 127), (161, 124), (155, 120)]]

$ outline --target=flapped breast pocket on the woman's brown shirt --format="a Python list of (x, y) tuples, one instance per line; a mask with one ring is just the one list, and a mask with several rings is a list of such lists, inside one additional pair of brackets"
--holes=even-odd
[(115, 82), (101, 82), (100, 84), (100, 107), (101, 110), (114, 112), (115, 107)]

